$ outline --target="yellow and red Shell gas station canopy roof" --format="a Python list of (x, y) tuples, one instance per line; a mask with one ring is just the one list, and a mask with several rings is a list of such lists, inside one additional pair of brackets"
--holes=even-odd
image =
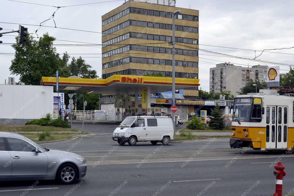
[[(199, 86), (199, 79), (175, 78), (176, 90)], [(41, 85), (54, 86), (56, 77), (42, 77)], [(106, 79), (59, 78), (59, 90), (88, 91), (96, 94), (135, 94), (135, 90), (150, 88), (150, 93), (172, 90), (172, 78), (113, 75)]]

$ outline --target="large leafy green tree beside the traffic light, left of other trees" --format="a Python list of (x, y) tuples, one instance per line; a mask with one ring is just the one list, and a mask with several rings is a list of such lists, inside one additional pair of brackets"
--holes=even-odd
[(15, 56), (9, 67), (11, 73), (19, 75), (19, 81), (27, 85), (40, 85), (42, 76), (54, 76), (61, 62), (52, 46), (54, 40), (46, 33), (38, 41), (28, 36), (25, 43), (13, 44)]

